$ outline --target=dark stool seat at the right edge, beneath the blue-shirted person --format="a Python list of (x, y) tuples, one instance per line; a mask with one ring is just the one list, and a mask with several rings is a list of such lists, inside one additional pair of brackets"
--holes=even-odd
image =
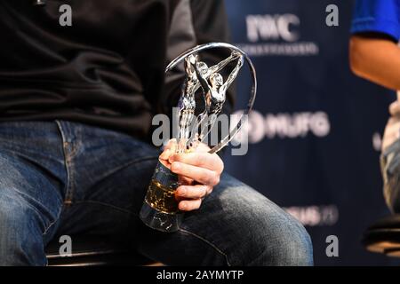
[(380, 219), (363, 236), (363, 245), (372, 252), (400, 257), (400, 214)]

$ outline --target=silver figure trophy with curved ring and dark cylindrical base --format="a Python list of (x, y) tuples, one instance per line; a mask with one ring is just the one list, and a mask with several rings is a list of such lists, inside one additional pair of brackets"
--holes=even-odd
[[(230, 51), (227, 59), (218, 64), (208, 67), (201, 60), (201, 52), (214, 48), (223, 48)], [(216, 122), (218, 114), (226, 100), (226, 92), (235, 81), (236, 76), (247, 63), (252, 76), (252, 89), (246, 109), (238, 120), (235, 127), (230, 128), (228, 135), (221, 138), (209, 153), (217, 153), (221, 148), (228, 145), (236, 133), (243, 126), (244, 115), (249, 114), (256, 96), (257, 80), (252, 60), (234, 45), (229, 43), (205, 43), (198, 45), (173, 59), (166, 67), (165, 74), (179, 64), (184, 64), (185, 80), (182, 82), (182, 93), (178, 103), (178, 138), (175, 139), (175, 153), (185, 154), (193, 152), (196, 147), (204, 142), (212, 126)], [(224, 80), (220, 75), (228, 64), (236, 63)], [(195, 117), (196, 93), (201, 92), (204, 98), (204, 112)], [(175, 232), (180, 228), (183, 213), (178, 208), (179, 201), (175, 198), (175, 191), (180, 186), (180, 178), (172, 173), (164, 161), (159, 160), (156, 170), (148, 186), (143, 206), (140, 210), (140, 219), (145, 225), (161, 232)]]

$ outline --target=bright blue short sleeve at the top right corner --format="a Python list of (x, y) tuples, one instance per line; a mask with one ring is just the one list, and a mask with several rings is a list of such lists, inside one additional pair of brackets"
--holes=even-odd
[(356, 0), (351, 33), (378, 32), (400, 39), (400, 0)]

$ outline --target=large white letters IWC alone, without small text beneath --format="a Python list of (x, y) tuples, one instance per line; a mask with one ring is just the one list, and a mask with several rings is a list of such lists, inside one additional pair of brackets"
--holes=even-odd
[(247, 15), (246, 26), (251, 43), (279, 39), (295, 42), (300, 38), (300, 19), (294, 14)]

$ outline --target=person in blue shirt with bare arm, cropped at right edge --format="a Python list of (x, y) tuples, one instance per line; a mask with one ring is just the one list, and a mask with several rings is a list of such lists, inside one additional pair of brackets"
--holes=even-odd
[(382, 140), (381, 170), (389, 209), (400, 212), (400, 0), (356, 0), (350, 66), (364, 79), (397, 90)]

